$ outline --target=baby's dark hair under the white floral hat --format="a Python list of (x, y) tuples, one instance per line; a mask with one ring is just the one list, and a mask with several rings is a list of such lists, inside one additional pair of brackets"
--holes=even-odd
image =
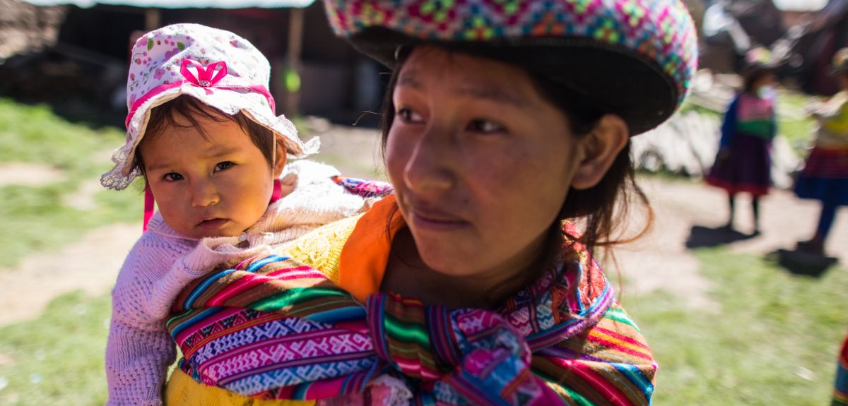
[[(177, 123), (175, 120), (177, 114), (188, 120), (188, 124)], [(132, 169), (138, 168), (142, 172), (142, 175), (146, 175), (144, 171), (144, 157), (141, 151), (142, 144), (161, 135), (165, 128), (197, 128), (204, 138), (208, 138), (204, 131), (200, 130), (198, 117), (215, 120), (219, 123), (232, 120), (250, 136), (250, 141), (254, 142), (254, 145), (259, 148), (259, 151), (265, 156), (265, 160), (268, 161), (268, 165), (271, 167), (274, 166), (275, 135), (273, 131), (263, 125), (257, 124), (254, 120), (250, 120), (242, 112), (238, 112), (235, 115), (226, 114), (218, 108), (200, 102), (194, 97), (181, 95), (150, 110), (148, 127), (144, 131), (142, 141), (138, 142), (136, 146)]]

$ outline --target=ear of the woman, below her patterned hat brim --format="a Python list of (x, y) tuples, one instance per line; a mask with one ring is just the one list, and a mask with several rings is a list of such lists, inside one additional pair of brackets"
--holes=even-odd
[(589, 189), (600, 182), (630, 139), (628, 124), (616, 114), (606, 114), (592, 132), (577, 141), (580, 164), (572, 179), (577, 190)]

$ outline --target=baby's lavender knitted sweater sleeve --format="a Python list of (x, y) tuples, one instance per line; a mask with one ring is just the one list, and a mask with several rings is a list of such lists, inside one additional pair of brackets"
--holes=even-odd
[(176, 297), (216, 265), (271, 253), (265, 245), (241, 249), (237, 242), (217, 237), (198, 244), (148, 231), (132, 248), (112, 291), (107, 404), (162, 404), (167, 368), (176, 356), (165, 320)]

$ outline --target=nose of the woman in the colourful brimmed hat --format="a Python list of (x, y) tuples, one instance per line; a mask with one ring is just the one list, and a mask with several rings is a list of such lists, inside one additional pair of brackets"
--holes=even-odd
[(427, 129), (412, 148), (404, 166), (404, 184), (417, 193), (439, 192), (454, 186), (455, 146), (450, 136), (435, 128)]

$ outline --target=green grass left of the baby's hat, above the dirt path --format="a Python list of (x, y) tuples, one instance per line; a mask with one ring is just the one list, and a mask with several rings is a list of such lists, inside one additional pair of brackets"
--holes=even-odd
[(124, 192), (103, 189), (91, 209), (64, 205), (64, 198), (84, 182), (98, 182), (109, 170), (103, 151), (120, 146), (123, 138), (117, 128), (93, 130), (70, 124), (46, 106), (0, 98), (0, 164), (43, 164), (63, 173), (43, 186), (0, 187), (0, 269), (13, 267), (29, 253), (75, 241), (100, 225), (141, 219), (142, 195), (133, 187)]

